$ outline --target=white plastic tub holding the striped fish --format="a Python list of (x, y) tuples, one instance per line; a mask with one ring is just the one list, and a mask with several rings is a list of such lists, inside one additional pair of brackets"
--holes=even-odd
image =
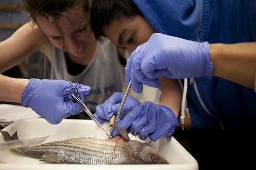
[[(1, 114), (1, 105), (0, 105)], [(107, 123), (103, 124), (105, 129), (109, 130)], [(58, 125), (51, 125), (43, 118), (25, 118), (19, 119), (10, 124), (3, 130), (13, 134), (18, 133), (20, 139), (33, 138), (50, 135), (44, 141), (62, 140), (73, 137), (95, 137), (105, 139), (106, 134), (98, 128), (91, 120), (64, 119)], [(137, 137), (130, 135), (132, 140), (139, 140)], [(0, 135), (0, 142), (4, 142)], [(149, 142), (142, 141), (142, 142)], [(48, 164), (36, 158), (30, 158), (23, 154), (10, 152), (9, 150), (0, 151), (0, 169), (198, 169), (196, 159), (181, 146), (176, 139), (161, 138), (156, 142), (149, 143), (165, 159), (171, 162), (170, 165), (69, 165), (69, 164)]]

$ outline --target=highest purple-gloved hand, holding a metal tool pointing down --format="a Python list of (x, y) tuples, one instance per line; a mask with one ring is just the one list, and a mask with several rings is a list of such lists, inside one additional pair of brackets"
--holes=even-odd
[(208, 42), (154, 33), (132, 52), (125, 67), (125, 82), (131, 80), (133, 90), (140, 93), (142, 83), (158, 88), (159, 76), (171, 79), (210, 77), (213, 63), (209, 48)]

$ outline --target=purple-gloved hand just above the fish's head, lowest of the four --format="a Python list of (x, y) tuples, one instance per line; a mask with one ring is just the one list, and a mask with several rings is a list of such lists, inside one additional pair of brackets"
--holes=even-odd
[[(161, 137), (171, 136), (178, 126), (178, 119), (165, 105), (144, 102), (130, 111), (117, 125), (134, 136), (138, 135), (142, 140), (149, 137), (156, 141)], [(112, 134), (115, 137), (119, 133), (114, 129)]]

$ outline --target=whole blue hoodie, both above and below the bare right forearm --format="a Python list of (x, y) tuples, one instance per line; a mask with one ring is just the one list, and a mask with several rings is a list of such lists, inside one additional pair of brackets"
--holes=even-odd
[[(256, 40), (255, 0), (133, 2), (154, 29), (163, 34), (209, 43)], [(187, 101), (193, 120), (191, 128), (256, 130), (256, 93), (252, 89), (219, 77), (201, 77), (188, 86)]]

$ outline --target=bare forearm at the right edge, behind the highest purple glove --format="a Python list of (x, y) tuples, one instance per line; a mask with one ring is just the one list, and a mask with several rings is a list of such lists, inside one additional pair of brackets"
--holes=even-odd
[(256, 42), (210, 44), (213, 75), (254, 88)]

